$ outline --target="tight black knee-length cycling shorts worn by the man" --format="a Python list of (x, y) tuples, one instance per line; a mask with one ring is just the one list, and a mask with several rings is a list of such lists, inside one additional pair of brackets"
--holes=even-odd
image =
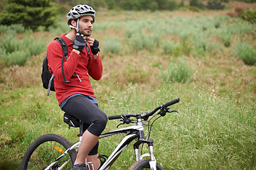
[[(88, 130), (93, 135), (100, 136), (107, 125), (107, 115), (97, 107), (97, 104), (92, 103), (85, 96), (74, 96), (70, 98), (62, 110), (82, 120), (85, 123), (84, 131)], [(98, 146), (99, 142), (97, 142), (97, 145), (92, 148), (88, 155), (97, 154)]]

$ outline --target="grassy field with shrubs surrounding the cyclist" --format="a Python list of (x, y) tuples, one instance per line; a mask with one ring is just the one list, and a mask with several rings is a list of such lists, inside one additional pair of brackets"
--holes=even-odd
[[(181, 99), (172, 106), (179, 113), (161, 118), (151, 134), (164, 169), (256, 168), (256, 68), (244, 60), (255, 54), (256, 27), (225, 13), (97, 13), (92, 37), (100, 42), (104, 71), (92, 86), (102, 111), (142, 113)], [(18, 56), (21, 50), (34, 54), (39, 49), (23, 65), (6, 66), (13, 62), (0, 57), (0, 169), (18, 169), (26, 148), (40, 135), (54, 132), (71, 143), (78, 140), (78, 130), (63, 123), (55, 93), (46, 96), (41, 85), (48, 43), (69, 31), (65, 18), (58, 24), (48, 32), (16, 33)], [(4, 36), (1, 49), (9, 40)], [(105, 132), (118, 123), (109, 121)], [(110, 154), (119, 139), (103, 140), (100, 153)], [(130, 145), (112, 169), (128, 169), (133, 154)]]

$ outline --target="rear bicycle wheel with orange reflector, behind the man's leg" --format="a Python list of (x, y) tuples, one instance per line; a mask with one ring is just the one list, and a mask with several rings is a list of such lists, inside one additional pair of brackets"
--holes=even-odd
[(66, 163), (63, 169), (70, 170), (77, 156), (75, 149), (70, 150), (64, 157), (56, 160), (70, 146), (71, 143), (61, 135), (42, 135), (32, 142), (32, 144), (26, 150), (21, 162), (21, 170), (46, 169), (48, 165), (55, 161), (56, 164), (54, 164), (51, 169), (58, 169), (58, 167)]

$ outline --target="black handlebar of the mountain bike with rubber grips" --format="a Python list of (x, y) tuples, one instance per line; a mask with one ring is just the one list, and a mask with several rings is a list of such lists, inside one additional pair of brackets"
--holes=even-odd
[(141, 118), (146, 118), (149, 117), (151, 115), (154, 115), (154, 113), (156, 113), (156, 111), (158, 111), (160, 108), (166, 108), (168, 106), (174, 105), (175, 103), (178, 103), (180, 101), (179, 98), (176, 98), (172, 101), (169, 101), (167, 103), (164, 103), (163, 105), (155, 108), (153, 111), (149, 112), (149, 113), (142, 113), (142, 114), (127, 114), (127, 115), (110, 115), (108, 117), (109, 120), (114, 120), (114, 119), (124, 119), (124, 118), (130, 118), (130, 117), (138, 117), (139, 115), (141, 116)]

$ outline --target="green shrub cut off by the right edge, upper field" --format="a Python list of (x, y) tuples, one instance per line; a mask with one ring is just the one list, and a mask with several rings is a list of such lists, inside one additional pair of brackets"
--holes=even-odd
[(233, 55), (239, 57), (247, 65), (256, 64), (256, 49), (247, 44), (247, 42), (239, 42), (235, 46)]

